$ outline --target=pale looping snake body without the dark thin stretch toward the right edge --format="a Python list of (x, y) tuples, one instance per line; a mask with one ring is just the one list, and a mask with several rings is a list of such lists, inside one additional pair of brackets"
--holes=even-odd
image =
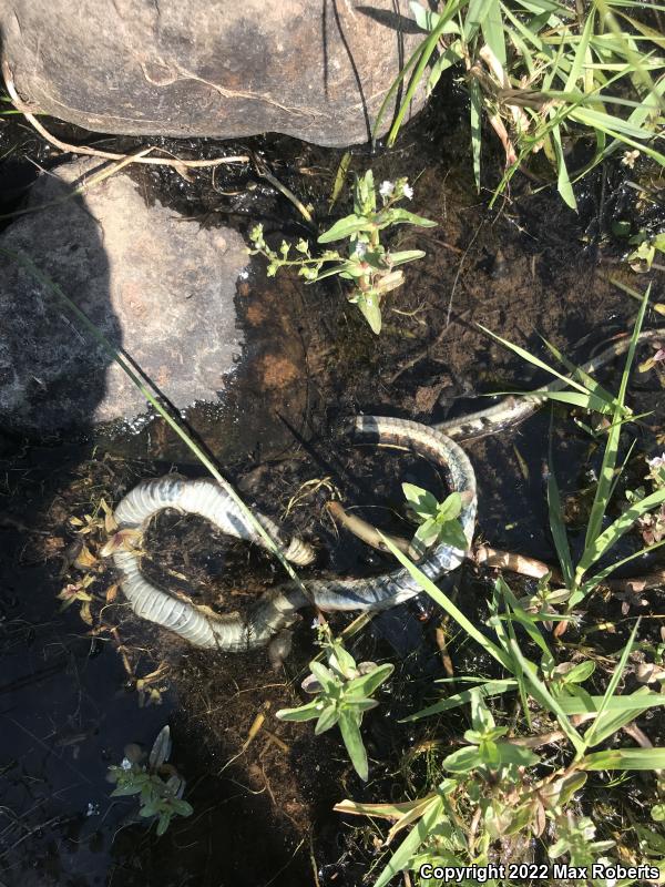
[[(460, 514), (469, 546), (475, 526), (475, 476), (469, 457), (458, 443), (439, 431), (406, 419), (376, 416), (360, 417), (356, 422), (359, 438), (376, 443), (407, 447), (433, 459), (446, 472), (451, 489), (467, 493)], [(117, 506), (115, 521), (123, 529), (144, 529), (150, 519), (165, 508), (201, 514), (225, 533), (264, 544), (262, 537), (247, 522), (234, 500), (212, 481), (187, 481), (166, 476), (135, 487)], [(307, 563), (311, 552), (306, 543), (283, 540), (269, 518), (257, 519), (282, 548), (285, 557)], [(295, 557), (294, 557), (295, 554)], [(420, 564), (426, 575), (436, 581), (462, 562), (464, 552), (448, 544), (437, 546)], [(122, 590), (136, 615), (171, 629), (197, 646), (241, 652), (264, 646), (282, 629), (296, 619), (296, 613), (314, 603), (320, 610), (381, 610), (418, 594), (421, 589), (405, 570), (395, 570), (374, 579), (315, 580), (275, 589), (264, 594), (248, 612), (216, 614), (188, 600), (170, 594), (149, 582), (141, 572), (140, 554), (119, 550), (113, 554), (122, 575)]]

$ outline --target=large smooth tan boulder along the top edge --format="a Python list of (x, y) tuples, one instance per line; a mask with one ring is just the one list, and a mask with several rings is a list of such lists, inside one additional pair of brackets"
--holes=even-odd
[[(423, 3), (424, 4), (424, 3)], [(401, 6), (407, 8), (407, 3)], [(89, 130), (367, 142), (423, 33), (393, 0), (0, 0), (19, 94)], [(411, 106), (423, 102), (420, 90)], [(391, 109), (382, 131), (390, 125)]]

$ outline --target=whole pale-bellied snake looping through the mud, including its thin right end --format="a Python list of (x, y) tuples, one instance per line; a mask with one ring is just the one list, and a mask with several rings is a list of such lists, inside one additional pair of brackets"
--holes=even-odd
[[(663, 332), (655, 329), (645, 330), (638, 340), (662, 338)], [(618, 339), (580, 370), (594, 373), (628, 347), (628, 338)], [(550, 392), (566, 385), (567, 381), (556, 379), (519, 400), (509, 396), (487, 409), (433, 426), (392, 417), (359, 416), (354, 431), (359, 441), (408, 449), (440, 467), (450, 490), (463, 495), (459, 518), (470, 548), (478, 508), (477, 482), (473, 466), (459, 441), (495, 434), (523, 421), (546, 401)], [(228, 536), (268, 548), (238, 501), (214, 480), (188, 480), (167, 475), (142, 481), (122, 499), (114, 518), (119, 531), (143, 532), (150, 520), (167, 508), (198, 514)], [(258, 511), (253, 511), (253, 514), (284, 558), (299, 567), (313, 562), (315, 552), (307, 542), (297, 537), (285, 537), (282, 528), (267, 516)], [(123, 593), (136, 615), (175, 632), (196, 646), (227, 653), (267, 645), (296, 621), (299, 610), (307, 606), (314, 605), (324, 612), (379, 611), (422, 591), (411, 572), (400, 568), (369, 579), (306, 580), (299, 584), (277, 587), (260, 595), (244, 613), (216, 613), (151, 583), (141, 570), (141, 552), (134, 548), (120, 547), (112, 557), (121, 574)], [(427, 579), (436, 582), (456, 570), (464, 557), (464, 551), (440, 541), (426, 553), (418, 567)]]

